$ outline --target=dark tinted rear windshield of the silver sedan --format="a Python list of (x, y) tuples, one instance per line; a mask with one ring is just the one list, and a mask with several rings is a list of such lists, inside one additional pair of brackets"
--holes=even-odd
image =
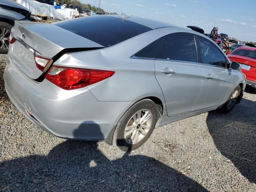
[[(90, 16), (56, 22), (54, 25), (109, 47), (152, 28), (113, 16)], [(67, 37), (68, 38), (68, 37)]]

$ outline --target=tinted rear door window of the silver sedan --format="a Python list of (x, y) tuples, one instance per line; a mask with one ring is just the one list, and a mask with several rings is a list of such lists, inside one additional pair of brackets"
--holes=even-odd
[(197, 62), (194, 36), (175, 35), (164, 38), (157, 58)]

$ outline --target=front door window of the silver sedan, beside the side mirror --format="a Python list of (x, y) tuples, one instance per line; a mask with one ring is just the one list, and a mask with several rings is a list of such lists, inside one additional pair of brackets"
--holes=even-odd
[(213, 44), (210, 42), (198, 38), (201, 52), (202, 52), (202, 63), (226, 67), (226, 59)]

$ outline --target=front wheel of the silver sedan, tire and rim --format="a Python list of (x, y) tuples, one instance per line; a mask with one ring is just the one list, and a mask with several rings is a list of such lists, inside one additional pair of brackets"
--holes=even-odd
[(241, 94), (241, 87), (238, 85), (231, 93), (229, 100), (220, 108), (220, 112), (229, 113), (238, 101), (238, 97)]

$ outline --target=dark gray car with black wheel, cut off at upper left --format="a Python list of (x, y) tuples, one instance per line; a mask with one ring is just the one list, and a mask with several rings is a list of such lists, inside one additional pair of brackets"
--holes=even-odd
[(29, 20), (30, 10), (13, 0), (0, 0), (0, 54), (6, 54), (14, 21)]

